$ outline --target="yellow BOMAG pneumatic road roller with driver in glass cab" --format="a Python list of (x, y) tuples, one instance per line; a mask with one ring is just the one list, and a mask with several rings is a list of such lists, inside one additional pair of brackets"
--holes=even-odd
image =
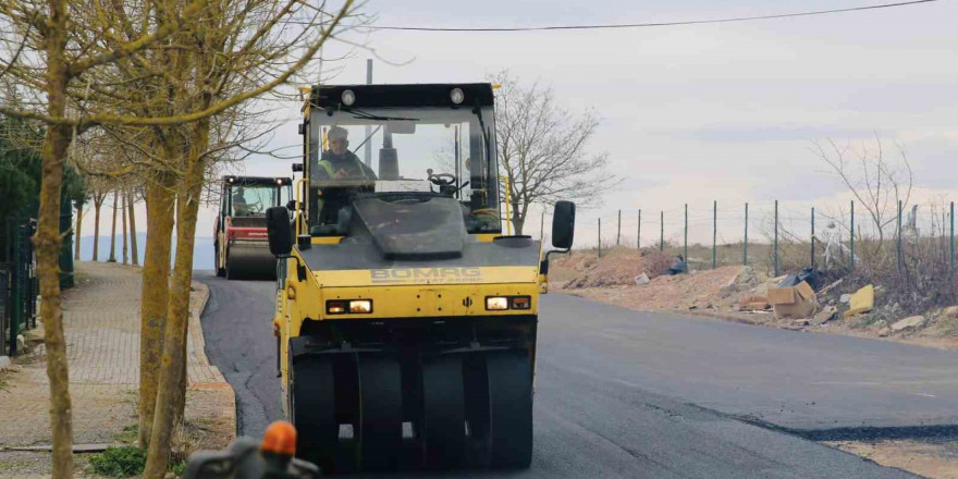
[(267, 224), (282, 403), (326, 471), (530, 464), (540, 287), (575, 205), (555, 249), (503, 234), (493, 91), (304, 89), (303, 177)]

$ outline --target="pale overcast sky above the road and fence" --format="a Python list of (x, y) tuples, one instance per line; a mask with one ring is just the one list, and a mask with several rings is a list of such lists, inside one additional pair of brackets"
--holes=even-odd
[[(850, 8), (882, 0), (369, 1), (380, 25), (539, 26), (666, 22)], [(845, 205), (811, 142), (873, 142), (908, 151), (919, 200), (958, 199), (958, 1), (717, 25), (539, 33), (355, 34), (376, 50), (377, 83), (475, 82), (500, 70), (551, 85), (572, 111), (602, 119), (591, 149), (624, 179), (604, 207), (580, 212), (577, 236), (619, 208), (698, 216), (774, 199), (794, 211)], [(352, 52), (351, 52), (352, 50)], [(329, 83), (365, 82), (368, 51), (331, 46)], [(395, 64), (389, 64), (388, 62)], [(335, 69), (335, 70), (333, 70)], [(299, 142), (298, 105), (272, 146)], [(288, 174), (254, 158), (248, 174)], [(652, 214), (649, 214), (651, 217)], [(728, 213), (729, 216), (733, 212)], [(209, 235), (205, 211), (198, 235)], [(675, 217), (678, 219), (678, 217)], [(635, 220), (632, 220), (635, 224)], [(643, 234), (644, 236), (644, 234)], [(730, 240), (730, 238), (729, 238)]]

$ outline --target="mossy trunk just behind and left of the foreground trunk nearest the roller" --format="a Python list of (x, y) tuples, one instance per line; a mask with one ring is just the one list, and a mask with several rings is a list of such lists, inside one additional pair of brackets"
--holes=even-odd
[(146, 214), (150, 225), (143, 261), (139, 336), (139, 446), (149, 447), (157, 406), (163, 329), (170, 302), (170, 235), (173, 233), (172, 182), (158, 174), (146, 187)]

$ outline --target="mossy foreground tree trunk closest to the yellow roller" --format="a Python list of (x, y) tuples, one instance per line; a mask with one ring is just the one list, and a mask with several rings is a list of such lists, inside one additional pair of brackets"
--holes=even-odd
[(175, 427), (177, 409), (182, 408), (177, 402), (179, 397), (185, 394), (181, 389), (185, 383), (183, 376), (186, 364), (189, 286), (193, 280), (193, 246), (205, 172), (202, 152), (209, 144), (209, 119), (200, 120), (194, 126), (186, 174), (177, 188), (176, 260), (170, 287), (170, 307), (163, 336), (163, 363), (144, 479), (162, 479), (167, 470), (170, 438)]

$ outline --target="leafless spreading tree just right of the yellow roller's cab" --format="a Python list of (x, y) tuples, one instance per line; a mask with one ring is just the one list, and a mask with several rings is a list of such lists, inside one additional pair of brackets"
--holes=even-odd
[(523, 234), (529, 207), (560, 199), (597, 206), (618, 184), (605, 172), (609, 156), (590, 146), (600, 119), (592, 111), (573, 113), (560, 106), (551, 87), (524, 86), (508, 72), (492, 77), (496, 95), (495, 136), (503, 191), (517, 234)]

